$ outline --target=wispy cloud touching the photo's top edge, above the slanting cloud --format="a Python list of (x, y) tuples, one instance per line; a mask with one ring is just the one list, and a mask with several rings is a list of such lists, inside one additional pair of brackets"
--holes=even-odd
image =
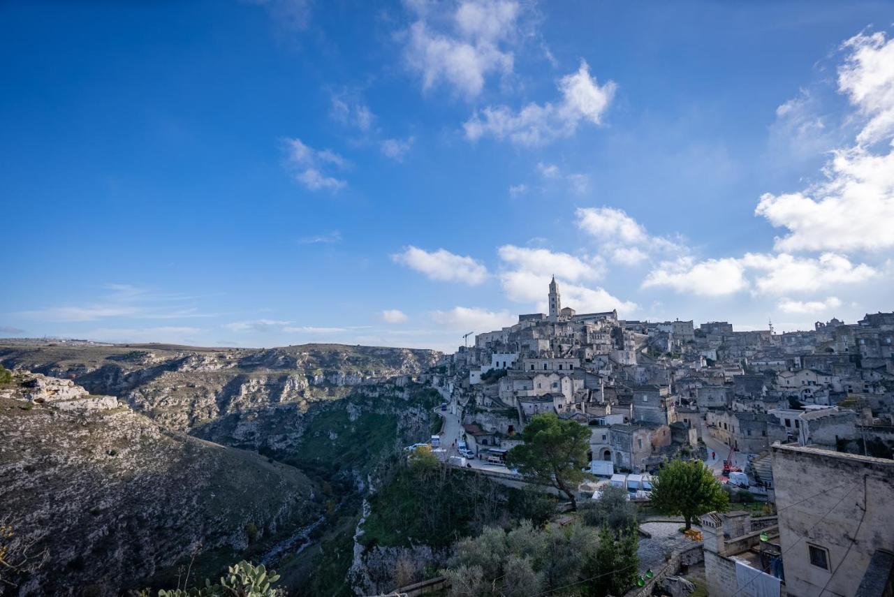
[(421, 8), (404, 36), (404, 59), (422, 77), (424, 90), (446, 84), (471, 99), (481, 93), (489, 75), (512, 71), (512, 52), (503, 46), (517, 34), (517, 2), (461, 2), (454, 13), (444, 15), (450, 25), (443, 32), (435, 30), (438, 16), (429, 6)]

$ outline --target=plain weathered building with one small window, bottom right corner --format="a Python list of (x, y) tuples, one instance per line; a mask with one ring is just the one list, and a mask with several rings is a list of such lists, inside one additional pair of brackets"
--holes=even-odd
[(892, 594), (894, 460), (775, 445), (772, 463), (788, 594)]

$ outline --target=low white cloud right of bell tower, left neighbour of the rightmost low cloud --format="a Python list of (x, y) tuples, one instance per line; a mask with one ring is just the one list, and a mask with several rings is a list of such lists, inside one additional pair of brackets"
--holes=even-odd
[(643, 281), (643, 288), (664, 286), (703, 297), (720, 297), (745, 290), (748, 282), (738, 259), (707, 259), (693, 263), (689, 257), (663, 262)]

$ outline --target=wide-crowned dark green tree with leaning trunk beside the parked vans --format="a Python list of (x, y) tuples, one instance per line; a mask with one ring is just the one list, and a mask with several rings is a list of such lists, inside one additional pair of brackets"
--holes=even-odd
[(590, 430), (577, 421), (561, 419), (553, 413), (531, 417), (521, 433), (523, 444), (506, 454), (506, 465), (536, 483), (552, 485), (568, 496), (578, 508), (575, 492), (584, 479)]

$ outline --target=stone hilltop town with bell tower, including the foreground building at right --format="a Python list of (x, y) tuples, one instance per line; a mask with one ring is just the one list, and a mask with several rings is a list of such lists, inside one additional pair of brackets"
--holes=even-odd
[(453, 375), (435, 380), (445, 397), (436, 454), (518, 475), (503, 466), (506, 454), (532, 417), (554, 413), (590, 432), (594, 476), (581, 499), (615, 485), (647, 503), (662, 467), (700, 459), (766, 505), (765, 517), (735, 504), (702, 517), (709, 594), (890, 586), (894, 313), (804, 332), (736, 331), (578, 314), (563, 307), (554, 278), (547, 294), (549, 313), (519, 315), (444, 358)]

